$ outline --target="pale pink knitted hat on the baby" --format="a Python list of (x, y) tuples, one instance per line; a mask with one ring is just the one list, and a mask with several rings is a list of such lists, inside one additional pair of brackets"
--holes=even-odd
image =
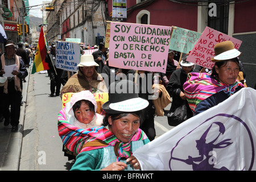
[[(73, 105), (77, 102), (77, 101), (81, 101), (81, 100), (87, 100), (92, 102), (92, 104), (94, 105), (94, 111), (96, 113), (97, 110), (97, 102), (93, 96), (93, 94), (89, 91), (89, 90), (84, 90), (81, 92), (77, 92), (75, 94), (72, 95), (71, 97), (71, 108), (68, 111), (69, 114), (73, 115)], [(72, 112), (71, 112), (72, 111)]]

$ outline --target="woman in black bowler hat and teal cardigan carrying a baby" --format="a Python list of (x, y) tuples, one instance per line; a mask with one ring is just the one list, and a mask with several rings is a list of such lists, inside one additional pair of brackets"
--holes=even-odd
[[(102, 105), (106, 112), (103, 126), (81, 130), (79, 134), (76, 131), (75, 135), (68, 127), (59, 125), (64, 145), (73, 148), (77, 155), (71, 170), (141, 169), (133, 152), (150, 142), (139, 129), (142, 109), (147, 105), (147, 100), (138, 97), (134, 82), (116, 81), (109, 86), (109, 101)], [(67, 131), (68, 136), (64, 136)]]

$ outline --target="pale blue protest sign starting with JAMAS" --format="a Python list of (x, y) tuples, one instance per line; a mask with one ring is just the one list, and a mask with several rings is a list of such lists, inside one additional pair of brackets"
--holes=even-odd
[(56, 68), (77, 72), (80, 63), (80, 46), (78, 43), (56, 41)]

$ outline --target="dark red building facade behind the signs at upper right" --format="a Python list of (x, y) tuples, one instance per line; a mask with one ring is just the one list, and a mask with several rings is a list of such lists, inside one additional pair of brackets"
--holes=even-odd
[[(112, 2), (112, 0), (108, 1), (110, 18), (113, 13)], [(246, 84), (254, 87), (256, 20), (253, 17), (256, 17), (256, 1), (127, 0), (126, 2), (127, 19), (122, 22), (177, 26), (197, 32), (203, 32), (208, 26), (242, 40), (240, 60), (247, 73)]]

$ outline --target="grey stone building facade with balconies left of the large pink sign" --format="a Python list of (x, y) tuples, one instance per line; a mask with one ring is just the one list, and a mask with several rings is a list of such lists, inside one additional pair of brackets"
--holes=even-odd
[(104, 41), (105, 1), (53, 1), (54, 12), (47, 16), (48, 42), (66, 38), (81, 39), (86, 46)]

